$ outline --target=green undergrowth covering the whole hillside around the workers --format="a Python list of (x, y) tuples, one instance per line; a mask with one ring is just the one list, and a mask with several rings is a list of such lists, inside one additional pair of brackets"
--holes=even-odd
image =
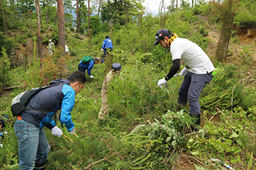
[[(209, 30), (218, 29), (218, 18), (210, 16), (208, 22), (202, 22), (196, 14), (208, 16), (209, 8), (213, 6), (203, 4), (193, 10), (169, 13), (165, 28), (196, 42), (207, 53), (212, 49), (206, 35)], [(236, 18), (240, 18), (242, 24), (245, 19), (240, 15)], [(196, 22), (198, 24), (191, 24)], [(44, 28), (45, 31), (50, 31), (51, 26), (48, 28)], [(62, 57), (61, 48), (56, 48), (52, 56), (44, 55), (41, 60), (34, 55), (29, 59), (26, 72), (22, 65), (10, 70), (8, 53), (2, 50), (0, 86), (21, 88), (1, 96), (0, 115), (11, 115), (11, 99), (22, 91), (46, 86), (53, 79), (65, 78), (77, 70), (85, 55), (102, 57), (102, 40), (110, 35), (114, 50), (109, 62), (122, 64), (120, 76), (112, 80), (112, 88), (108, 91), (110, 115), (105, 120), (97, 117), (102, 82), (111, 69), (106, 61), (93, 67), (95, 79), (85, 74), (85, 88), (75, 96), (72, 115), (78, 138), (70, 135), (65, 127), (62, 130), (68, 138), (55, 137), (46, 129), (50, 144), (48, 169), (178, 169), (181, 157), (193, 162), (193, 169), (223, 168), (220, 162), (210, 162), (210, 159), (220, 159), (234, 169), (256, 169), (256, 72), (252, 57), (255, 44), (243, 46), (239, 54), (231, 56), (233, 62), (218, 63), (209, 55), (217, 74), (199, 98), (201, 126), (194, 132), (189, 106), (182, 106), (180, 111), (176, 109), (183, 77), (170, 79), (163, 89), (156, 86), (172, 64), (170, 52), (153, 45), (155, 33), (160, 28), (158, 16), (145, 16), (142, 25), (129, 23), (112, 28), (110, 32), (98, 32), (91, 39), (67, 31), (65, 40), (70, 56)], [(45, 36), (43, 40), (47, 41), (52, 35), (49, 32)], [(22, 43), (24, 38), (18, 38)], [(36, 50), (34, 52), (36, 54)], [(183, 67), (185, 64), (181, 69)], [(10, 117), (5, 129), (8, 134), (0, 139), (3, 145), (0, 147), (1, 169), (18, 166), (14, 121)], [(58, 119), (55, 121), (61, 127)], [(192, 169), (191, 166), (187, 168)]]

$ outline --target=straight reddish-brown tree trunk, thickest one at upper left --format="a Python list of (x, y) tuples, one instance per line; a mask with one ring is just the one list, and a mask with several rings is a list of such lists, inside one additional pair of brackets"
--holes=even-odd
[(63, 0), (57, 0), (58, 5), (58, 42), (63, 47), (62, 55), (65, 55), (65, 13)]

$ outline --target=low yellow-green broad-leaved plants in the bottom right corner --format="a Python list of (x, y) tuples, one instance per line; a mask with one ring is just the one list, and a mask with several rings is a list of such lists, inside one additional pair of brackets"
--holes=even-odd
[[(242, 108), (235, 108), (234, 112), (219, 111), (222, 122), (207, 122), (198, 135), (188, 141), (187, 147), (191, 154), (204, 159), (219, 157), (222, 160), (230, 159), (231, 164), (242, 162), (242, 152), (245, 147), (253, 147), (253, 137), (247, 135), (254, 131), (255, 125), (246, 119), (247, 113)], [(254, 115), (255, 117), (255, 115)], [(207, 153), (207, 154), (206, 154)], [(252, 162), (247, 162), (251, 167)]]

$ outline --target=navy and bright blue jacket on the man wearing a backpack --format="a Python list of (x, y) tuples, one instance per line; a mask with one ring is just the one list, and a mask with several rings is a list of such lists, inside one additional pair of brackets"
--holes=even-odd
[(60, 83), (58, 86), (49, 87), (39, 91), (28, 103), (29, 108), (39, 108), (49, 113), (25, 110), (21, 114), (22, 120), (36, 125), (38, 128), (47, 127), (50, 130), (56, 125), (53, 120), (55, 111), (60, 111), (60, 123), (70, 132), (75, 127), (71, 119), (71, 111), (75, 103), (75, 91), (70, 86), (68, 79), (56, 79), (50, 84)]

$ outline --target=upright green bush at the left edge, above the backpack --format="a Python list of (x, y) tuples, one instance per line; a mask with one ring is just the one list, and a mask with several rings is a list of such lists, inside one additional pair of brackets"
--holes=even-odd
[(11, 73), (9, 72), (11, 62), (6, 54), (6, 49), (3, 48), (1, 54), (3, 56), (0, 58), (0, 88), (11, 84)]

